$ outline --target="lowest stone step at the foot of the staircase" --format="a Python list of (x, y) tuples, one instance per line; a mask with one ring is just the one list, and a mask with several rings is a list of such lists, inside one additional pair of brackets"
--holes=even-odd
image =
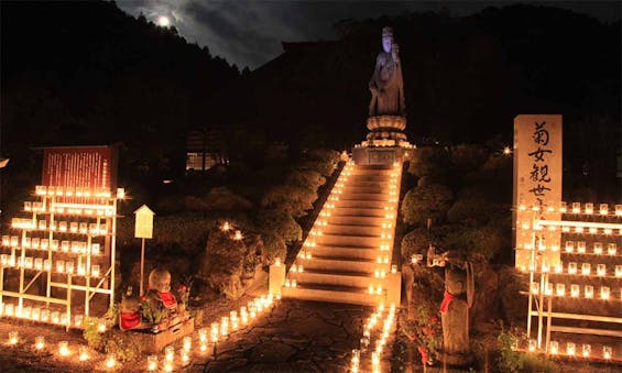
[(313, 286), (302, 284), (298, 287), (281, 288), (281, 296), (304, 300), (346, 303), (352, 305), (378, 306), (384, 295), (368, 294), (365, 290), (338, 286)]

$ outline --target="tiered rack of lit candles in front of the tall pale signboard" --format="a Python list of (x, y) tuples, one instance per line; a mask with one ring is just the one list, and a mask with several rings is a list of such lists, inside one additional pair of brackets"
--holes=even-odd
[[(605, 282), (620, 284), (622, 279), (622, 255), (621, 255), (621, 238), (622, 238), (622, 205), (615, 205), (611, 210), (607, 204), (599, 205), (598, 210), (593, 204), (574, 202), (568, 208), (565, 202), (558, 206), (519, 206), (519, 209), (533, 211), (532, 221), (524, 221), (520, 228), (532, 235), (531, 259), (528, 267), (522, 267), (523, 272), (530, 274), (528, 290), (528, 310), (527, 310), (527, 338), (530, 352), (544, 352), (552, 355), (582, 356), (602, 361), (622, 361), (620, 355), (622, 351), (613, 351), (611, 345), (602, 345), (602, 352), (592, 351), (590, 344), (582, 343), (580, 347), (576, 342), (567, 342), (565, 347), (560, 347), (558, 341), (550, 340), (552, 332), (564, 332), (570, 334), (590, 334), (603, 337), (622, 337), (621, 325), (622, 317), (620, 315), (607, 316), (599, 315), (599, 307), (603, 301), (615, 301), (622, 304), (622, 288), (611, 288), (602, 285)], [(546, 219), (546, 213), (557, 213), (557, 217), (564, 215), (568, 220)], [(538, 234), (547, 230), (548, 232), (559, 232), (572, 234), (570, 239), (560, 239), (556, 243), (548, 243), (542, 239), (543, 234)], [(583, 237), (597, 238), (597, 242), (586, 244), (586, 241), (577, 241)], [(591, 241), (591, 240), (588, 240)], [(582, 263), (576, 261), (566, 262), (564, 259), (568, 255), (580, 255), (586, 257)], [(601, 263), (594, 265), (589, 263), (588, 257), (598, 257)], [(596, 271), (594, 271), (596, 270)], [(553, 284), (549, 281), (554, 276), (559, 282)], [(601, 286), (596, 289), (592, 284), (579, 285), (572, 282), (600, 279)], [(567, 283), (571, 283), (568, 286)], [(587, 301), (590, 314), (569, 314), (554, 311), (554, 299), (567, 297), (582, 299)], [(593, 305), (593, 307), (592, 307)], [(534, 339), (534, 320), (537, 320), (537, 331)], [(596, 321), (609, 326), (608, 328), (582, 328), (555, 325), (555, 320), (583, 320)], [(544, 344), (543, 344), (544, 339)]]

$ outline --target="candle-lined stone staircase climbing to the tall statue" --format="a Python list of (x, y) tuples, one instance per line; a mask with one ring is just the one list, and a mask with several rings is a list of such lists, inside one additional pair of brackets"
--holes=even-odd
[(369, 306), (384, 301), (400, 179), (401, 164), (348, 163), (288, 268), (281, 295)]

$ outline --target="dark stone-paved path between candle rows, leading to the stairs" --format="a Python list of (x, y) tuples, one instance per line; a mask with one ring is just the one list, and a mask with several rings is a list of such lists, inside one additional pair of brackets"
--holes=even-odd
[(363, 306), (283, 299), (218, 342), (215, 355), (189, 372), (346, 372), (372, 309)]

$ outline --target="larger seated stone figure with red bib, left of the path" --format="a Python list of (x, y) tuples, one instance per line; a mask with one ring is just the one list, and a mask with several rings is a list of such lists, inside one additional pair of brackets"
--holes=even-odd
[[(144, 315), (145, 312), (150, 315)], [(144, 316), (148, 316), (148, 319), (154, 323), (154, 331), (166, 330), (188, 318), (185, 305), (178, 304), (171, 292), (168, 271), (155, 268), (149, 274), (149, 289), (143, 306)]]

